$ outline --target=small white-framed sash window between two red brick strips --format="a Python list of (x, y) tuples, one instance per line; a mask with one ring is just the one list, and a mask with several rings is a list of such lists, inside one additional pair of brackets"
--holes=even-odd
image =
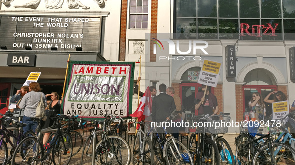
[(148, 27), (148, 0), (130, 0), (130, 29)]

